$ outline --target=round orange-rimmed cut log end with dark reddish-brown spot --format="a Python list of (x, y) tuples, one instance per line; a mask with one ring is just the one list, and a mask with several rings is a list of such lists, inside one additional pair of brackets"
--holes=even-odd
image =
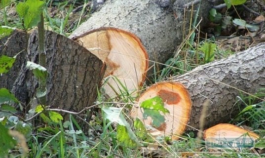
[(164, 107), (169, 110), (165, 114), (165, 122), (158, 128), (153, 127), (151, 118), (143, 118), (143, 109), (140, 106), (133, 107), (132, 118), (140, 118), (146, 126), (152, 126), (150, 133), (154, 136), (171, 136), (172, 140), (178, 140), (183, 134), (190, 117), (191, 100), (188, 90), (178, 82), (159, 82), (148, 88), (139, 98), (138, 103), (151, 99), (155, 96), (162, 98)]

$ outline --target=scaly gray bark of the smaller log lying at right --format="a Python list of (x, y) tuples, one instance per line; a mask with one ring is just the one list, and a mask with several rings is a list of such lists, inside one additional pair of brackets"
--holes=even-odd
[(238, 89), (254, 94), (265, 87), (265, 43), (199, 66), (171, 80), (183, 83), (189, 90), (192, 100), (190, 126), (199, 129), (199, 118), (207, 99), (210, 102), (204, 128), (228, 122), (239, 113), (239, 107), (234, 106), (236, 97), (240, 93), (248, 95)]

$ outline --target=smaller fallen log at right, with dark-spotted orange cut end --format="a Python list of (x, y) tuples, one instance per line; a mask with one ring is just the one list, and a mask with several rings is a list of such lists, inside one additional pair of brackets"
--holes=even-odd
[[(188, 125), (187, 130), (201, 129), (200, 127), (205, 129), (217, 123), (228, 122), (239, 113), (239, 108), (242, 108), (234, 106), (238, 95), (250, 95), (265, 86), (265, 43), (226, 59), (199, 66), (180, 77), (155, 83), (140, 96), (139, 103), (155, 95), (167, 96), (167, 99), (164, 99), (165, 103), (167, 103), (166, 100), (175, 100), (176, 103), (183, 101), (184, 96), (188, 96), (188, 94), (182, 90), (176, 90), (172, 87), (167, 88), (167, 91), (161, 91), (167, 87), (166, 85), (158, 88), (161, 84), (177, 84), (176, 82), (185, 85), (189, 91), (192, 101), (190, 118), (189, 113), (186, 113), (186, 110), (183, 111), (187, 108), (186, 103), (175, 104), (173, 102), (170, 106), (165, 104), (170, 115), (166, 116), (166, 129), (156, 128), (160, 131), (160, 135), (165, 133), (178, 136), (182, 132), (175, 131), (182, 131), (185, 128), (183, 124), (188, 122), (187, 118), (189, 118), (189, 123), (185, 124), (185, 126)], [(176, 95), (169, 95), (170, 93), (176, 93)], [(207, 100), (209, 100), (209, 104), (205, 105)], [(202, 114), (203, 106), (207, 106), (205, 114)], [(176, 107), (175, 110), (172, 107)], [(182, 107), (182, 109), (177, 107)], [(137, 110), (136, 107), (132, 109), (131, 116), (143, 118), (141, 110)], [(201, 117), (204, 118), (204, 122), (200, 122)], [(179, 120), (171, 121), (175, 118)], [(150, 124), (151, 120), (147, 121), (149, 122), (146, 124)], [(175, 138), (173, 137), (173, 139)]]

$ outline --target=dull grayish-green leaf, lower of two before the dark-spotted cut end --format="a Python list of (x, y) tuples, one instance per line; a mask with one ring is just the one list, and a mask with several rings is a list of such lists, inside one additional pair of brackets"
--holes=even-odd
[(165, 117), (160, 114), (157, 110), (151, 110), (151, 109), (144, 109), (143, 117), (147, 119), (148, 117), (152, 118), (152, 126), (155, 128), (160, 127), (162, 123), (165, 123)]

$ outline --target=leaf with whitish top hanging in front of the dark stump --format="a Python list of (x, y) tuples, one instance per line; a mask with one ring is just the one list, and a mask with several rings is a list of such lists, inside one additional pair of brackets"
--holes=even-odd
[(27, 62), (26, 68), (32, 70), (34, 76), (37, 79), (40, 79), (43, 82), (46, 81), (46, 79), (48, 77), (48, 72), (47, 72), (46, 68), (44, 68), (44, 67), (42, 67), (36, 63), (30, 62), (30, 61)]

